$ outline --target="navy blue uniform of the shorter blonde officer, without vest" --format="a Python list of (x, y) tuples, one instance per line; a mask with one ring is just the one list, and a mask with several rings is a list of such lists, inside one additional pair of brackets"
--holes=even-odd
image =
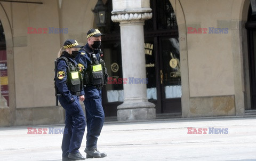
[[(63, 52), (73, 65), (76, 62), (70, 57), (67, 52)], [(85, 131), (85, 116), (84, 111), (79, 103), (79, 96), (76, 93), (69, 91), (67, 86), (67, 69), (68, 65), (65, 60), (60, 59), (57, 62), (57, 70), (55, 71), (55, 80), (58, 91), (61, 96), (58, 96), (61, 106), (66, 110), (65, 129), (62, 139), (62, 157), (67, 157), (69, 153), (75, 154), (81, 147), (84, 131)]]

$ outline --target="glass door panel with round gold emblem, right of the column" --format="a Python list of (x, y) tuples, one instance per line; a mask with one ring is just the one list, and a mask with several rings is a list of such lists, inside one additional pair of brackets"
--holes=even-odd
[(178, 37), (159, 38), (162, 112), (181, 112), (181, 74)]

